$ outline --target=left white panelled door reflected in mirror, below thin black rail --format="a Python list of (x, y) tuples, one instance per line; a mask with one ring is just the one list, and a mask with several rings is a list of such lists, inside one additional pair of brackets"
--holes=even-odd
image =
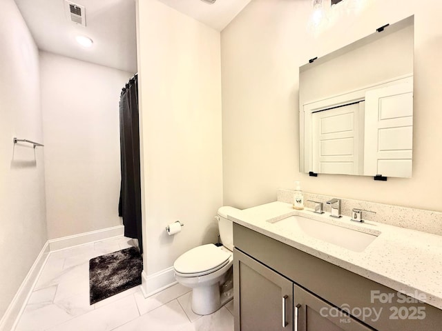
[(311, 114), (313, 171), (363, 174), (364, 101)]

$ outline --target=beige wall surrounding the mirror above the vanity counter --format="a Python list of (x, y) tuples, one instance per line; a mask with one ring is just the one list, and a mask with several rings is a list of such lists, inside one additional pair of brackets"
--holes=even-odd
[[(311, 1), (253, 0), (221, 33), (224, 204), (276, 199), (300, 180), (307, 192), (442, 211), (441, 1), (361, 0), (364, 8), (306, 30)], [(385, 23), (414, 14), (414, 141), (411, 179), (299, 172), (298, 68)]]

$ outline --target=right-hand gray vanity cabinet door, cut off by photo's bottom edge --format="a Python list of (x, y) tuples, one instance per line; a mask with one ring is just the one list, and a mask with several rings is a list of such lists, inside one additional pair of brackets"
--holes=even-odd
[(373, 331), (327, 301), (294, 285), (295, 331)]

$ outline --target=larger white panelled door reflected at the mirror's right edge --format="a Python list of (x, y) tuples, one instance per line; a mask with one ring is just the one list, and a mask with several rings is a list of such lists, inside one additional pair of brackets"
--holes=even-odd
[(364, 174), (412, 177), (412, 81), (369, 90), (365, 103)]

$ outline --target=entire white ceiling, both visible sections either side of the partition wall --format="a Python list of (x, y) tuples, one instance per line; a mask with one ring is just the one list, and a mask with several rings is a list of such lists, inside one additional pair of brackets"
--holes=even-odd
[[(68, 21), (64, 0), (15, 0), (40, 50), (137, 72), (135, 0), (70, 0), (86, 8), (86, 27)], [(146, 1), (146, 0), (140, 0)], [(221, 31), (251, 0), (159, 0)], [(75, 41), (93, 39), (92, 48)]]

